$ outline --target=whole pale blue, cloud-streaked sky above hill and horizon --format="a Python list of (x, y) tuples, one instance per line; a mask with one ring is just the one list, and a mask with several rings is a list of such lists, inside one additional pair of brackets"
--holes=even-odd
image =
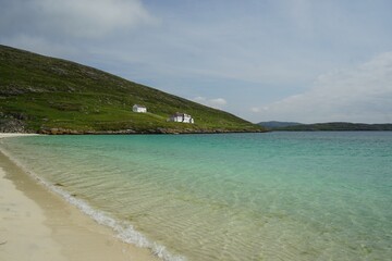
[(254, 123), (392, 123), (391, 0), (0, 0), (0, 45)]

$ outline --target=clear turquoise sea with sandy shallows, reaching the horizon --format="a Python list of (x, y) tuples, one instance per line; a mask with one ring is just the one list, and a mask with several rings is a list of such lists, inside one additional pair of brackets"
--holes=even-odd
[(392, 257), (391, 132), (1, 142), (122, 240), (166, 260)]

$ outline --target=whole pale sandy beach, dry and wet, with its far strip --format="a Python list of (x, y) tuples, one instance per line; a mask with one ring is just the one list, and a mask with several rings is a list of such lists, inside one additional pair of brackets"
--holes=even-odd
[[(0, 134), (11, 138), (21, 134)], [(0, 260), (157, 260), (147, 249), (120, 241), (1, 152)]]

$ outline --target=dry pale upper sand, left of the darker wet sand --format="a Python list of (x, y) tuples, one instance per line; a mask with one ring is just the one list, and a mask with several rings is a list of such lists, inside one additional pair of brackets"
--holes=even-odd
[(0, 260), (66, 260), (42, 210), (4, 176), (0, 167)]

